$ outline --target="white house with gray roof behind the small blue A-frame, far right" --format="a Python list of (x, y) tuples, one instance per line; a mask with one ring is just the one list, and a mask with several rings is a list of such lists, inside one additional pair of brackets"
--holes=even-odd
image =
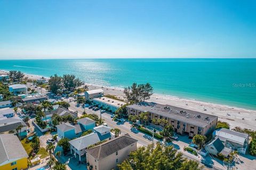
[(213, 132), (213, 138), (219, 138), (223, 145), (245, 154), (249, 143), (249, 135), (222, 128)]

